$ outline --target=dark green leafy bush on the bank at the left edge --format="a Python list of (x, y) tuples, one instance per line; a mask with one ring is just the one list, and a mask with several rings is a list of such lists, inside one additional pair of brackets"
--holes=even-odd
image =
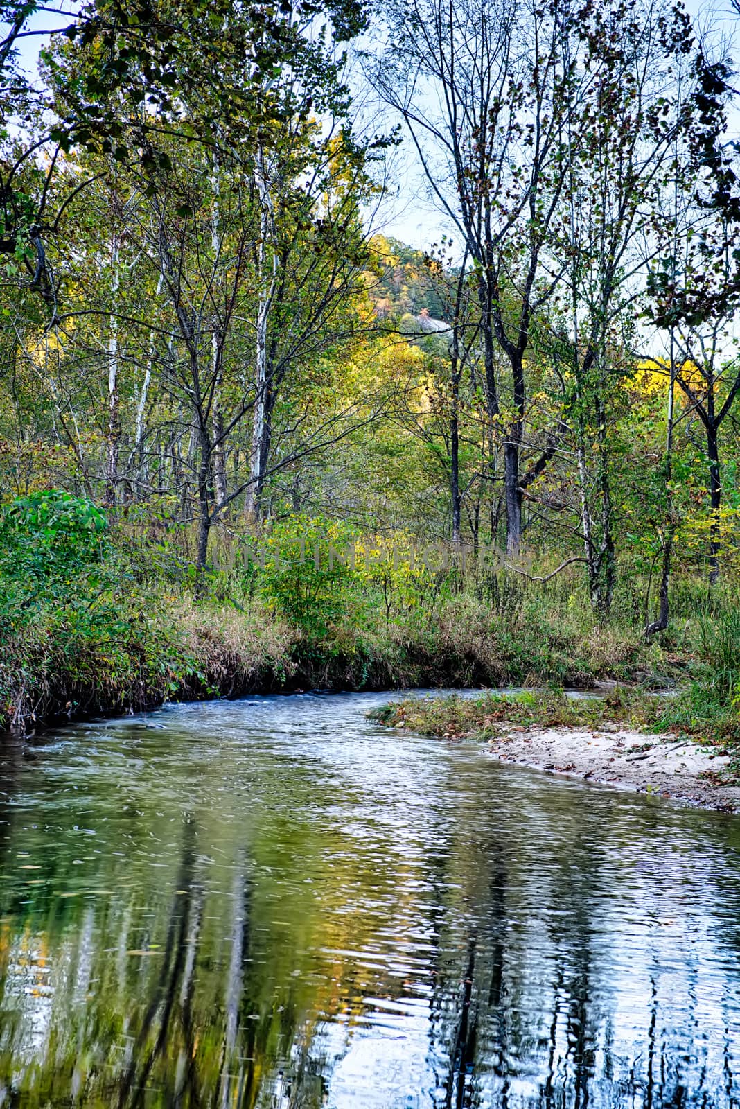
[(0, 716), (18, 723), (161, 700), (197, 672), (103, 512), (58, 489), (0, 513)]

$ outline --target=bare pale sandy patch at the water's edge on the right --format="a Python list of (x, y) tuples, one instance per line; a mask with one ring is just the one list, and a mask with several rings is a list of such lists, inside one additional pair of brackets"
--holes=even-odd
[(571, 774), (638, 793), (736, 812), (740, 785), (722, 782), (730, 757), (676, 735), (605, 724), (599, 731), (513, 726), (486, 743), (501, 762)]

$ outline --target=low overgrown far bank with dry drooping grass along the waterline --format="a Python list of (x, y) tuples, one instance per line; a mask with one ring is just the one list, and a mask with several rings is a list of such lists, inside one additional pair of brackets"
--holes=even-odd
[[(307, 689), (358, 692), (471, 688), (543, 680), (474, 624), (391, 624), (311, 638), (258, 606), (249, 613), (181, 600), (144, 618), (75, 629), (50, 620), (27, 630), (0, 660), (0, 729), (124, 715), (166, 701)], [(536, 667), (537, 660), (534, 665)], [(559, 663), (568, 675), (568, 663)], [(543, 675), (543, 671), (545, 674)], [(569, 680), (589, 683), (583, 661)]]

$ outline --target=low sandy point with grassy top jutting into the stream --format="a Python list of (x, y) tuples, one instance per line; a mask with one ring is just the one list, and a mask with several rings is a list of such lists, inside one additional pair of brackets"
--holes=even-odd
[(679, 700), (619, 686), (577, 701), (555, 693), (489, 693), (392, 702), (371, 718), (448, 741), (477, 740), (500, 762), (740, 811), (737, 747), (700, 729), (661, 729)]

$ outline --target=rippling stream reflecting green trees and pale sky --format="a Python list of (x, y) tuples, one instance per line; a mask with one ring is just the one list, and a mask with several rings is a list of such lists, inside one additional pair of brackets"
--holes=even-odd
[(6, 741), (0, 1105), (740, 1105), (740, 820), (382, 701)]

